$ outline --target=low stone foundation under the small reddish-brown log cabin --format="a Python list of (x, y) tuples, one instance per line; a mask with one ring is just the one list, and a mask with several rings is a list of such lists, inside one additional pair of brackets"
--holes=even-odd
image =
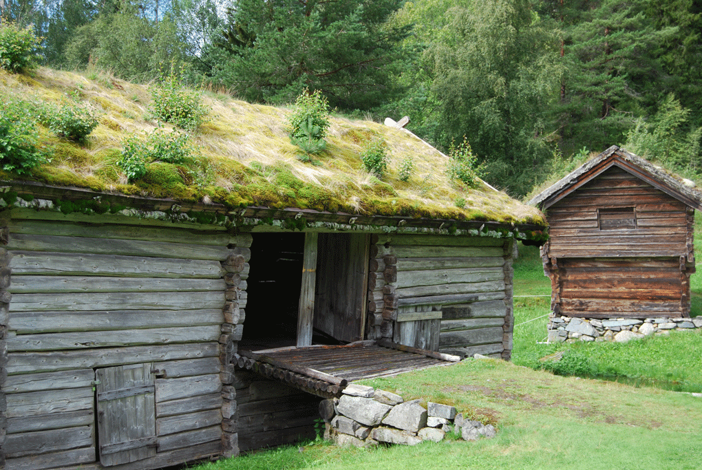
[(548, 342), (614, 341), (627, 342), (650, 335), (665, 335), (671, 330), (702, 328), (702, 317), (670, 318), (578, 318), (550, 316)]

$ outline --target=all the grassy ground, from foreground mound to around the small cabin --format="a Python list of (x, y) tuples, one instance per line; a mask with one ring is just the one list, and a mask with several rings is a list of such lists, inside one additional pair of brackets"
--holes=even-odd
[[(550, 282), (538, 249), (520, 248), (512, 363), (469, 359), (366, 382), (406, 399), (455, 405), (495, 424), (496, 438), (371, 450), (301, 443), (197, 470), (698, 469), (702, 398), (666, 389), (702, 391), (702, 331), (628, 344), (539, 344), (546, 335)], [(695, 301), (702, 281), (694, 278), (692, 285)], [(558, 363), (547, 366), (555, 372), (610, 380), (540, 370), (539, 358), (555, 351), (564, 351), (560, 369)]]

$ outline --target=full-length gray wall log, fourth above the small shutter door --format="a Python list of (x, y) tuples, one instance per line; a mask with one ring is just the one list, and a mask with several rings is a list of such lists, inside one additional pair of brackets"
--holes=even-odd
[(12, 311), (222, 309), (223, 292), (16, 294)]

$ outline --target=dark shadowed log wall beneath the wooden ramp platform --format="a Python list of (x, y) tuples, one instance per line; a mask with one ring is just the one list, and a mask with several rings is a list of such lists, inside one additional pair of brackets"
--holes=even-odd
[(239, 449), (255, 450), (314, 438), (318, 398), (255, 372), (234, 372)]

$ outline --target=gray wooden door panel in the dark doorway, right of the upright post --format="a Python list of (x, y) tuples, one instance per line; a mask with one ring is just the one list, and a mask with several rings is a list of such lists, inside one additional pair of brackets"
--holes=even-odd
[(363, 339), (369, 248), (366, 234), (319, 234), (313, 324), (342, 342)]

